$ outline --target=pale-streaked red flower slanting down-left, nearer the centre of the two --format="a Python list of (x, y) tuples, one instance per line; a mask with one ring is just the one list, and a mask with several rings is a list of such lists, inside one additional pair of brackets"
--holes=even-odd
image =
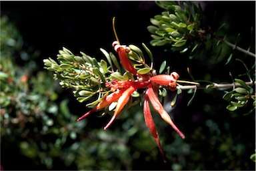
[(127, 102), (129, 101), (129, 97), (135, 90), (136, 89), (133, 86), (130, 86), (125, 90), (125, 92), (123, 92), (123, 94), (120, 96), (120, 98), (117, 101), (117, 106), (115, 107), (115, 113), (113, 114), (109, 123), (104, 127), (104, 130), (109, 128), (109, 126), (113, 123), (113, 121), (117, 117), (117, 114), (119, 114), (119, 112), (123, 109), (125, 104), (127, 104)]

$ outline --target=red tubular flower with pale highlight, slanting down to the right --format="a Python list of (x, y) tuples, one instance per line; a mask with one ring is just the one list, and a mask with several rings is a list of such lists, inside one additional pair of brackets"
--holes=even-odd
[(147, 94), (153, 108), (160, 114), (161, 118), (163, 118), (165, 122), (169, 123), (173, 127), (173, 129), (176, 130), (176, 132), (181, 136), (181, 138), (185, 138), (184, 134), (177, 128), (177, 126), (175, 126), (175, 124), (171, 120), (171, 117), (163, 108), (161, 102), (159, 102), (159, 99), (155, 95), (152, 85), (149, 85), (149, 88), (147, 89)]

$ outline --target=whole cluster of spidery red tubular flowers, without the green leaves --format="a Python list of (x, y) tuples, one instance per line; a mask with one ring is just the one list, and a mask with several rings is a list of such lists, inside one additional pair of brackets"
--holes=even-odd
[(149, 128), (159, 150), (165, 160), (163, 150), (161, 148), (159, 135), (157, 133), (157, 129), (153, 122), (153, 118), (151, 116), (151, 111), (149, 108), (149, 101), (153, 108), (160, 114), (161, 118), (165, 120), (168, 124), (170, 124), (173, 129), (181, 136), (181, 138), (185, 138), (184, 134), (175, 126), (169, 114), (163, 108), (159, 98), (157, 96), (159, 85), (169, 86), (170, 90), (176, 89), (176, 81), (179, 79), (179, 75), (176, 72), (171, 73), (171, 75), (154, 75), (154, 72), (149, 72), (146, 74), (140, 74), (131, 64), (131, 61), (127, 57), (127, 54), (131, 51), (131, 49), (125, 45), (120, 45), (119, 42), (115, 41), (113, 43), (113, 47), (115, 51), (119, 55), (119, 59), (123, 67), (129, 72), (132, 73), (136, 79), (129, 79), (127, 81), (118, 81), (117, 79), (112, 79), (110, 82), (106, 82), (105, 86), (109, 87), (111, 90), (111, 94), (105, 96), (101, 102), (99, 102), (92, 110), (81, 116), (77, 119), (77, 121), (82, 120), (83, 118), (89, 116), (93, 112), (103, 109), (111, 104), (117, 102), (115, 105), (115, 112), (111, 118), (111, 120), (104, 127), (106, 130), (113, 123), (119, 112), (124, 108), (125, 104), (129, 102), (130, 96), (138, 89), (145, 89), (145, 100), (143, 105), (143, 111), (145, 116), (145, 122), (147, 127)]

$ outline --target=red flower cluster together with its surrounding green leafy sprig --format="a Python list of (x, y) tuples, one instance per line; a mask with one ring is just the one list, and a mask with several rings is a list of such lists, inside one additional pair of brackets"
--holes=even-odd
[[(169, 74), (168, 67), (167, 74), (157, 75), (153, 69), (153, 55), (145, 44), (142, 45), (147, 52), (147, 56), (151, 59), (150, 66), (145, 63), (144, 54), (139, 47), (120, 44), (115, 31), (114, 19), (113, 29), (117, 41), (113, 42), (113, 48), (118, 54), (119, 60), (113, 53), (107, 53), (104, 49), (100, 49), (110, 64), (108, 66), (103, 59), (98, 62), (95, 58), (89, 57), (89, 55), (82, 52), (82, 56), (79, 57), (73, 55), (68, 49), (63, 48), (57, 55), (57, 60), (60, 64), (51, 58), (45, 59), (45, 68), (49, 71), (55, 71), (54, 78), (60, 80), (61, 86), (73, 88), (73, 94), (77, 96), (79, 102), (93, 99), (87, 103), (87, 106), (92, 109), (83, 114), (77, 121), (83, 120), (99, 110), (101, 110), (101, 116), (107, 113), (112, 114), (111, 120), (104, 127), (104, 130), (111, 126), (120, 113), (131, 106), (133, 97), (141, 96), (139, 100), (143, 100), (141, 104), (143, 104), (145, 123), (163, 156), (163, 160), (166, 162), (149, 106), (151, 103), (151, 106), (159, 113), (161, 118), (170, 124), (181, 138), (185, 138), (163, 108), (158, 95), (166, 96), (166, 87), (169, 87), (171, 91), (177, 89), (177, 94), (180, 94), (181, 89), (177, 88), (177, 82), (190, 84), (192, 82), (178, 80), (179, 74), (176, 72)], [(118, 61), (126, 71), (123, 75)], [(164, 69), (165, 65), (161, 65), (159, 73), (162, 73)], [(171, 106), (175, 104), (177, 94), (173, 98)]]

